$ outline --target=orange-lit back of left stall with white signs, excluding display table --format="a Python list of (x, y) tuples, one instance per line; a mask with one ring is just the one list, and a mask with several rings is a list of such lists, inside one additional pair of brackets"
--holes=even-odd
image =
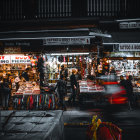
[[(23, 72), (29, 69), (29, 78), (31, 81), (37, 81), (38, 72), (33, 67), (32, 58), (23, 54), (7, 54), (0, 56), (0, 76), (2, 82), (8, 82), (12, 92), (16, 90), (15, 78), (23, 78)], [(35, 76), (36, 75), (36, 76)], [(22, 79), (20, 79), (22, 80)]]

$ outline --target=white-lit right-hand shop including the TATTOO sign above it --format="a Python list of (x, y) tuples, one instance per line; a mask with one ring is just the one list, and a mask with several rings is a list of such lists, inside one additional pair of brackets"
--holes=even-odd
[(114, 43), (113, 51), (106, 52), (110, 67), (114, 67), (120, 80), (123, 75), (133, 76), (134, 85), (140, 78), (140, 43)]

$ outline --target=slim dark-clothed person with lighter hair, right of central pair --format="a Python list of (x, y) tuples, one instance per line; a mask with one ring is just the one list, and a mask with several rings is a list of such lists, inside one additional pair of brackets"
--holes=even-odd
[(70, 95), (68, 102), (70, 103), (72, 100), (73, 103), (75, 103), (77, 80), (74, 74), (74, 70), (72, 71), (72, 75), (70, 76), (70, 83), (71, 83), (72, 94)]

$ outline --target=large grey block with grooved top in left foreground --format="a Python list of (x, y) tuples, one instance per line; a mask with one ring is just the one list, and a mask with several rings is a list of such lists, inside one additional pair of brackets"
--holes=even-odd
[(63, 140), (61, 110), (1, 111), (1, 140)]

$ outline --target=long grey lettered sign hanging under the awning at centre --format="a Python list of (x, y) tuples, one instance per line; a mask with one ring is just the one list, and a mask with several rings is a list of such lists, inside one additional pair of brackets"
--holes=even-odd
[(65, 38), (46, 38), (43, 45), (84, 45), (90, 44), (88, 37), (65, 37)]

